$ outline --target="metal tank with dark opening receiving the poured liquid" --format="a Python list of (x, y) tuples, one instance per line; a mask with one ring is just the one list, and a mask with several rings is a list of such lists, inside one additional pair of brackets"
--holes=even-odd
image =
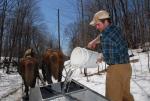
[(63, 82), (35, 87), (30, 90), (29, 101), (108, 101), (104, 96), (72, 80), (67, 90)]

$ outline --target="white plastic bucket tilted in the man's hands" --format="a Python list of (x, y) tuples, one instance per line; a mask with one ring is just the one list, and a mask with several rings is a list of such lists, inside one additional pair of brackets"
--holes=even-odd
[(71, 53), (71, 65), (79, 68), (96, 68), (100, 53), (85, 48), (76, 47)]

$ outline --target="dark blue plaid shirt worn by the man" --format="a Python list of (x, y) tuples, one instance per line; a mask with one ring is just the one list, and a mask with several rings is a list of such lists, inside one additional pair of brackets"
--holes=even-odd
[(108, 65), (129, 63), (128, 46), (121, 29), (110, 25), (101, 34), (104, 61)]

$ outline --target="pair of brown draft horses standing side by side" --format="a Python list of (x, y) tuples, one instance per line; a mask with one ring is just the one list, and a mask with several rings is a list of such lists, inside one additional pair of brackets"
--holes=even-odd
[[(39, 65), (40, 64), (40, 65)], [(40, 60), (36, 58), (33, 49), (27, 49), (24, 56), (20, 59), (18, 72), (21, 75), (25, 85), (25, 97), (28, 98), (29, 88), (35, 87), (36, 78), (41, 79), (39, 68), (42, 70), (42, 80), (52, 83), (52, 76), (61, 81), (64, 68), (64, 54), (60, 50), (47, 49)]]

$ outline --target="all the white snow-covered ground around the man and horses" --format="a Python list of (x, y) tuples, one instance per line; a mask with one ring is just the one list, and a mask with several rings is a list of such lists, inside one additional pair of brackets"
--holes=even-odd
[[(132, 79), (131, 79), (131, 93), (135, 101), (150, 101), (150, 72), (148, 68), (148, 54), (146, 52), (138, 53), (140, 50), (132, 50), (134, 57), (131, 60), (137, 60), (132, 64)], [(100, 70), (105, 68), (105, 63), (99, 65)], [(88, 68), (88, 74), (97, 72), (97, 68)], [(65, 71), (64, 71), (65, 73)], [(73, 79), (89, 87), (90, 89), (105, 96), (105, 78), (106, 73), (101, 75), (93, 75), (87, 78), (80, 73), (80, 69), (76, 70)], [(0, 100), (2, 101), (19, 101), (22, 91), (18, 90), (22, 86), (21, 77), (19, 74), (4, 74), (0, 70)], [(17, 95), (10, 95), (13, 91), (19, 92)]]

